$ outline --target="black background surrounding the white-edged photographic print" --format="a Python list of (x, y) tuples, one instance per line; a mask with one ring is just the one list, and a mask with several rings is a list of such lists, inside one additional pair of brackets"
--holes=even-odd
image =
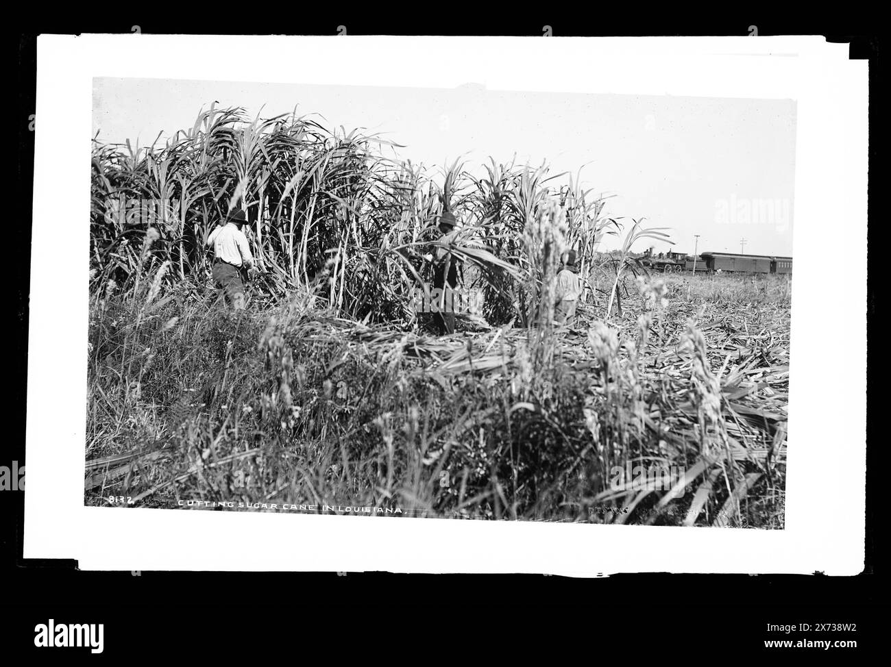
[[(89, 13), (84, 13), (87, 8)], [(617, 16), (617, 11), (626, 15)], [(755, 4), (708, 7), (705, 11), (694, 5), (672, 6), (661, 12), (597, 4), (577, 10), (567, 6), (532, 9), (519, 4), (498, 4), (488, 10), (465, 4), (414, 4), (380, 5), (364, 16), (349, 5), (323, 12), (307, 10), (302, 4), (231, 8), (202, 4), (194, 10), (90, 4), (70, 8), (67, 15), (53, 8), (42, 12), (45, 16), (17, 19), (7, 25), (13, 32), (5, 40), (15, 49), (14, 92), (12, 85), (7, 85), (15, 99), (7, 104), (6, 120), (7, 128), (14, 126), (17, 135), (18, 173), (14, 191), (7, 192), (6, 201), (14, 200), (15, 210), (7, 214), (3, 235), (7, 244), (5, 273), (12, 277), (5, 294), (14, 303), (3, 309), (7, 321), (4, 378), (9, 391), (4, 397), (8, 429), (0, 464), (18, 460), (27, 465), (25, 390), (34, 167), (29, 116), (35, 106), (38, 34), (130, 33), (131, 26), (139, 25), (143, 34), (332, 35), (343, 24), (351, 35), (537, 36), (548, 24), (554, 37), (746, 36), (750, 25), (756, 25), (762, 36), (824, 35), (830, 41), (851, 43), (853, 59), (871, 61), (870, 182), (883, 183), (879, 156), (885, 148), (887, 123), (880, 94), (885, 86), (884, 40), (876, 34), (876, 17), (858, 15), (853, 5), (844, 11), (846, 16), (814, 13), (787, 17), (773, 6), (759, 9)], [(225, 68), (227, 58), (236, 57), (237, 53), (220, 54), (221, 67)], [(307, 63), (307, 67), (323, 67), (323, 63)], [(481, 67), (521, 68), (522, 63), (481, 63)], [(6, 71), (12, 84), (12, 69)], [(596, 77), (594, 72), (579, 75)], [(871, 198), (870, 217), (876, 228), (874, 201)], [(64, 216), (60, 224), (64, 224)], [(876, 256), (881, 260), (882, 243), (874, 229), (870, 233), (871, 269)], [(832, 264), (841, 270), (846, 263), (862, 261), (866, 258), (839, 257)], [(880, 326), (873, 316), (874, 299), (871, 284), (867, 305), (872, 341)], [(829, 343), (830, 336), (838, 335), (831, 331), (844, 327), (831, 321), (830, 311), (827, 316), (827, 331), (815, 335), (825, 335)], [(58, 335), (65, 335), (63, 322)], [(871, 358), (877, 357), (873, 354)], [(830, 359), (831, 353), (826, 391), (836, 391), (830, 379)], [(881, 378), (884, 369), (872, 369), (868, 374), (871, 389), (877, 372)], [(46, 400), (63, 401), (65, 396), (48, 387)], [(69, 658), (79, 650), (93, 659), (218, 656), (231, 660), (238, 655), (277, 655), (293, 647), (288, 654), (292, 660), (315, 662), (336, 660), (344, 648), (355, 645), (375, 660), (411, 660), (415, 655), (463, 659), (478, 657), (478, 648), (470, 649), (478, 645), (502, 653), (541, 643), (552, 655), (577, 655), (583, 660), (649, 662), (656, 657), (672, 662), (711, 662), (770, 652), (784, 660), (796, 654), (811, 660), (822, 652), (765, 649), (764, 639), (798, 639), (797, 635), (769, 634), (766, 624), (856, 622), (855, 633), (808, 639), (857, 639), (857, 649), (834, 649), (834, 654), (830, 649), (823, 655), (834, 660), (858, 659), (864, 650), (881, 650), (888, 637), (880, 621), (887, 613), (887, 551), (882, 539), (887, 528), (882, 493), (887, 486), (882, 484), (886, 443), (874, 437), (875, 408), (881, 400), (875, 392), (868, 398), (866, 565), (858, 576), (634, 574), (578, 580), (543, 575), (90, 573), (78, 571), (73, 561), (22, 559), (23, 493), (2, 492), (0, 614), (4, 620), (0, 621), (0, 640), (10, 652), (36, 651), (34, 626), (53, 618), (56, 622), (104, 623), (105, 651), (94, 656), (86, 649), (53, 648), (37, 655)], [(839, 443), (839, 450), (844, 447), (845, 443)], [(828, 492), (831, 486), (827, 480)], [(422, 654), (400, 650), (405, 640), (415, 638), (427, 650)], [(312, 654), (307, 653), (309, 647)], [(322, 652), (315, 657), (319, 647)]]

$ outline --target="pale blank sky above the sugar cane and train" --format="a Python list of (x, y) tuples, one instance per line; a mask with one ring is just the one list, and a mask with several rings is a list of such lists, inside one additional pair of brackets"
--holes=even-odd
[[(95, 78), (93, 134), (149, 145), (191, 128), (199, 111), (240, 106), (263, 118), (318, 114), (325, 126), (364, 128), (402, 144), (429, 167), (489, 156), (551, 175), (581, 168), (581, 183), (609, 195), (605, 215), (668, 227), (675, 250), (792, 254), (796, 104), (750, 100), (486, 90)], [(695, 235), (699, 240), (695, 240)], [(607, 237), (601, 249), (616, 248)]]

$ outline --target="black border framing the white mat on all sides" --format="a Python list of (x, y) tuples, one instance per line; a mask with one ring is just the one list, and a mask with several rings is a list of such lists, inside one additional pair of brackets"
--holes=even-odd
[[(20, 26), (21, 31), (14, 35), (17, 60), (14, 123), (19, 150), (13, 199), (17, 210), (14, 219), (7, 219), (4, 234), (7, 243), (14, 248), (6, 253), (8, 263), (12, 264), (7, 268), (7, 275), (16, 279), (15, 287), (7, 291), (7, 295), (13, 295), (14, 307), (4, 309), (12, 318), (12, 326), (6, 328), (10, 336), (5, 346), (6, 377), (12, 380), (6, 398), (12, 432), (7, 437), (4, 458), (25, 460), (29, 221), (34, 167), (34, 133), (29, 130), (29, 117), (35, 104), (37, 34), (128, 33), (131, 25), (138, 24), (143, 33), (331, 35), (337, 32), (338, 25), (345, 24), (348, 32), (354, 35), (540, 35), (542, 26), (550, 24), (555, 36), (721, 36), (746, 35), (748, 26), (754, 24), (761, 35), (822, 34), (832, 42), (849, 42), (852, 59), (870, 61), (871, 118), (885, 118), (882, 113), (884, 99), (878, 92), (884, 73), (879, 48), (881, 40), (872, 34), (869, 17), (849, 15), (824, 19), (809, 15), (786, 20), (774, 9), (768, 12), (742, 9), (735, 12), (735, 16), (726, 18), (709, 10), (699, 14), (697, 20), (701, 22), (697, 23), (697, 20), (676, 12), (664, 12), (663, 16), (647, 15), (648, 12), (642, 11), (638, 12), (641, 15), (613, 19), (609, 11), (604, 14), (600, 9), (594, 9), (588, 13), (566, 8), (549, 13), (545, 18), (510, 20), (500, 17), (470, 22), (466, 18), (470, 14), (467, 9), (461, 5), (414, 6), (405, 10), (390, 7), (387, 12), (378, 12), (376, 18), (369, 19), (359, 18), (347, 8), (307, 18), (301, 9), (301, 18), (291, 20), (286, 18), (286, 10), (282, 10), (282, 16), (273, 19), (270, 14), (274, 15), (276, 10), (265, 7), (263, 12), (257, 12), (262, 15), (257, 16), (256, 22), (251, 23), (253, 12), (237, 8), (226, 12), (220, 7), (208, 8), (206, 5), (205, 11), (201, 12), (204, 16), (198, 12), (189, 16), (180, 10), (156, 9), (135, 12), (132, 18), (124, 13), (128, 10), (116, 8), (112, 12), (97, 12), (103, 18), (83, 14), (64, 16), (53, 11), (52, 15), (33, 20), (27, 27)], [(519, 5), (495, 10), (524, 13)], [(340, 14), (356, 15), (356, 19), (345, 20), (339, 18)], [(393, 19), (393, 14), (413, 22), (400, 24)], [(213, 15), (216, 22), (208, 23), (208, 15)], [(550, 18), (552, 15), (559, 18)], [(750, 16), (758, 18), (748, 18)], [(486, 67), (522, 66), (521, 63), (482, 64)], [(871, 124), (870, 180), (873, 183), (878, 174), (879, 142), (884, 138), (884, 125), (882, 120)], [(874, 216), (874, 205), (869, 212)], [(841, 221), (840, 228), (843, 227)], [(872, 261), (867, 260), (868, 269), (870, 275), (876, 275), (874, 261), (879, 255), (877, 248), (880, 244), (874, 232), (870, 232), (869, 240), (874, 252)], [(843, 267), (844, 262), (862, 262), (863, 259), (845, 258), (838, 265)], [(876, 292), (870, 282), (868, 335), (873, 341), (878, 333), (875, 299)], [(827, 336), (831, 336), (830, 329), (839, 327), (843, 330), (843, 325), (828, 321)], [(59, 335), (64, 335), (63, 325)], [(833, 342), (831, 345), (837, 344)], [(540, 627), (545, 637), (550, 638), (553, 635), (546, 633), (546, 627), (557, 623), (565, 631), (558, 637), (571, 639), (577, 631), (569, 630), (572, 626), (581, 630), (575, 635), (578, 639), (590, 636), (592, 639), (609, 637), (610, 641), (636, 641), (618, 649), (619, 655), (627, 655), (629, 659), (652, 655), (637, 651), (658, 650), (658, 644), (647, 646), (653, 639), (676, 641), (678, 648), (686, 645), (689, 648), (682, 655), (701, 659), (699, 649), (706, 647), (730, 648), (733, 653), (752, 647), (764, 651), (760, 640), (772, 639), (763, 631), (765, 622), (813, 620), (859, 622), (861, 626), (856, 636), (846, 635), (839, 639), (862, 639), (859, 643), (865, 645), (871, 643), (872, 637), (880, 637), (876, 614), (879, 606), (887, 606), (887, 552), (880, 540), (886, 525), (884, 522), (879, 525), (887, 513), (881, 511), (877, 499), (877, 484), (881, 484), (879, 480), (885, 469), (882, 459), (885, 448), (873, 437), (879, 398), (874, 391), (869, 393), (869, 388), (875, 388), (875, 371), (868, 371), (867, 386), (868, 442), (872, 441), (873, 446), (867, 449), (866, 565), (864, 572), (854, 577), (827, 577), (819, 573), (814, 576), (620, 574), (605, 579), (576, 580), (542, 575), (143, 572), (133, 576), (131, 573), (86, 573), (78, 571), (73, 561), (22, 559), (23, 494), (0, 493), (3, 523), (14, 528), (12, 532), (6, 530), (0, 534), (0, 572), (3, 573), (0, 581), (4, 582), (0, 611), (15, 614), (13, 622), (0, 623), (0, 637), (8, 634), (12, 645), (33, 648), (31, 640), (36, 622), (45, 622), (51, 617), (68, 622), (95, 620), (106, 623), (106, 655), (132, 655), (131, 640), (139, 642), (141, 654), (158, 649), (160, 655), (168, 655), (164, 651), (169, 650), (169, 646), (152, 644), (147, 639), (159, 631), (163, 631), (165, 637), (173, 638), (169, 639), (171, 642), (175, 639), (192, 641), (195, 631), (206, 631), (211, 638), (225, 639), (226, 619), (231, 619), (228, 623), (241, 626), (239, 631), (247, 632), (251, 638), (248, 643), (254, 646), (264, 638), (274, 643), (282, 638), (291, 640), (290, 635), (294, 633), (315, 637), (317, 632), (327, 630), (335, 636), (371, 632), (372, 637), (379, 638), (381, 633), (391, 635), (394, 630), (402, 637), (405, 630), (409, 630), (426, 636), (431, 646), (437, 646), (449, 641), (440, 635), (450, 634), (455, 629), (453, 622), (459, 630), (480, 635), (486, 641), (495, 639), (495, 634), (490, 632), (491, 626), (506, 620), (513, 630), (528, 627), (535, 634), (535, 629)], [(828, 382), (828, 391), (829, 387)], [(48, 390), (46, 400), (64, 400), (64, 396), (53, 395), (52, 390)], [(839, 447), (842, 448), (843, 443)], [(831, 480), (827, 480), (826, 486), (831, 493)], [(834, 501), (844, 502), (845, 499)], [(454, 605), (462, 606), (466, 614), (412, 614), (416, 607), (445, 610)], [(579, 613), (564, 616), (554, 608), (568, 605), (579, 606)], [(113, 641), (112, 635), (116, 638)], [(508, 637), (511, 636), (515, 641), (533, 639), (522, 631)], [(465, 639), (459, 632), (454, 641), (462, 644)], [(566, 645), (566, 641), (560, 642), (560, 646)], [(230, 652), (235, 650), (230, 641), (211, 641), (209, 647), (205, 642), (193, 642), (193, 646), (208, 651), (223, 647), (226, 655), (233, 655)], [(671, 653), (666, 652), (666, 657)], [(601, 651), (598, 654), (606, 657)], [(780, 655), (788, 653), (781, 652)]]

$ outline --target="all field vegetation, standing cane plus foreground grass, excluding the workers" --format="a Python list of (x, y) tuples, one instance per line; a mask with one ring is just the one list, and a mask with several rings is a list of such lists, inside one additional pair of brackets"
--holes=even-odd
[[(587, 330), (556, 329), (563, 251), (578, 252), (593, 305), (609, 264), (599, 243), (621, 232), (604, 199), (546, 166), (492, 159), (479, 177), (460, 161), (388, 157), (386, 145), (309, 117), (214, 107), (163, 146), (94, 142), (87, 458), (100, 472), (88, 498), (606, 523), (680, 523), (674, 509), (690, 525), (781, 517), (784, 429), (735, 412), (728, 423), (745, 406), (727, 392), (751, 386), (715, 364), (698, 322), (722, 298), (782, 295), (697, 281), (684, 300), (683, 282), (645, 279), (629, 291), (623, 256), (607, 272), (609, 304), (580, 318)], [(163, 206), (118, 216), (121, 197)], [(203, 248), (232, 207), (248, 213), (261, 267), (239, 313), (208, 289)], [(450, 241), (437, 231), (445, 211), (462, 221)], [(623, 253), (651, 234), (635, 223)], [(432, 281), (437, 248), (483, 290), (495, 329), (415, 329), (412, 291)], [(621, 293), (629, 317), (610, 317)], [(759, 338), (747, 363), (771, 361), (773, 341)], [(753, 453), (765, 447), (766, 460)], [(612, 469), (642, 461), (687, 473), (667, 492), (617, 487)]]

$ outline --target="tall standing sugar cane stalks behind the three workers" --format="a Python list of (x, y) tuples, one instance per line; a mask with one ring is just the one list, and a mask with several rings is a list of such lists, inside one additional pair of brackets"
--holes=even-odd
[[(441, 170), (385, 155), (398, 146), (377, 135), (327, 130), (293, 114), (248, 118), (241, 109), (200, 113), (191, 129), (163, 146), (105, 145), (94, 139), (91, 260), (94, 290), (114, 281), (136, 289), (145, 234), (157, 233), (149, 262), (169, 261), (172, 285), (202, 288), (209, 256), (203, 240), (232, 207), (249, 216), (261, 272), (255, 297), (315, 289), (348, 318), (408, 321), (406, 295), (430, 281), (426, 256), (437, 218), (451, 211), (463, 230), (452, 248), (486, 290), (486, 317), (528, 324), (525, 291), (535, 267), (523, 234), (550, 202), (562, 209), (568, 244), (590, 264), (602, 231), (602, 198), (571, 175), (515, 165), (486, 165), (477, 178), (456, 161)], [(152, 216), (127, 202), (155, 202)], [(533, 260), (534, 261), (534, 260)]]

